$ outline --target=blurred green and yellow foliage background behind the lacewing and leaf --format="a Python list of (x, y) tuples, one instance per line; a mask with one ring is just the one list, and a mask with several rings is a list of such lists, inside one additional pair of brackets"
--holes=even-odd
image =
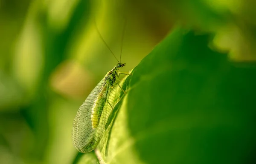
[(253, 0), (0, 0), (0, 163), (70, 164), (77, 109), (119, 58), (134, 68), (176, 25), (256, 59)]

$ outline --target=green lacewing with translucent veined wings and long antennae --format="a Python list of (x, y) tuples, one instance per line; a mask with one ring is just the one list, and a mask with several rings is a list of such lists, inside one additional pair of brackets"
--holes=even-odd
[[(96, 30), (102, 41), (111, 51), (97, 27)], [(123, 35), (124, 31), (122, 40)], [(111, 53), (113, 54), (113, 51), (111, 51)], [(88, 153), (97, 147), (105, 132), (105, 124), (108, 120), (108, 116), (117, 103), (116, 96), (118, 96), (118, 90), (116, 88), (117, 86), (120, 87), (120, 85), (116, 82), (116, 77), (123, 74), (119, 72), (119, 68), (125, 66), (125, 63), (121, 63), (121, 55), (122, 44), (120, 60), (91, 91), (76, 114), (73, 122), (72, 138), (76, 149), (81, 153)], [(113, 56), (116, 58), (114, 54)], [(122, 91), (125, 92), (124, 90)]]

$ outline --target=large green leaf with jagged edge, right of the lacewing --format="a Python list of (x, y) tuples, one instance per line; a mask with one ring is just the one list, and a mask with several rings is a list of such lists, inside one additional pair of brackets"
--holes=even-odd
[(99, 144), (106, 163), (253, 161), (256, 67), (229, 62), (208, 42), (177, 29), (134, 68), (107, 144)]

